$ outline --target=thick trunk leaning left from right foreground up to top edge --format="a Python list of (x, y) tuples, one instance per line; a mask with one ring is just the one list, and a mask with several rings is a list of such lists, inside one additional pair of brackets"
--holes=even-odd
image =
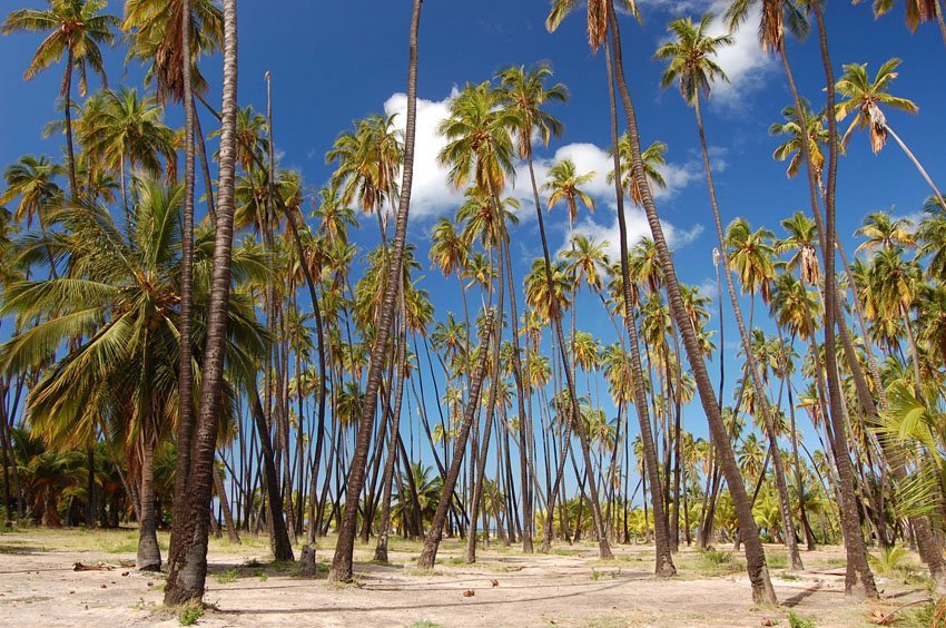
[(772, 588), (771, 580), (769, 579), (768, 567), (766, 566), (766, 553), (762, 549), (761, 539), (759, 538), (759, 529), (756, 527), (756, 521), (752, 518), (752, 508), (749, 503), (749, 497), (746, 494), (746, 487), (742, 483), (742, 475), (739, 473), (736, 454), (732, 451), (732, 445), (726, 433), (726, 426), (722, 422), (716, 393), (712, 390), (712, 383), (710, 382), (709, 374), (707, 373), (706, 363), (703, 362), (702, 352), (697, 341), (696, 331), (693, 330), (683, 307), (683, 300), (680, 295), (680, 286), (677, 283), (677, 271), (673, 267), (673, 261), (670, 258), (670, 249), (667, 246), (663, 227), (661, 226), (660, 218), (657, 214), (653, 195), (648, 187), (647, 175), (641, 159), (640, 135), (638, 133), (637, 117), (634, 116), (631, 96), (628, 91), (628, 85), (624, 79), (621, 53), (621, 33), (614, 13), (614, 0), (608, 0), (608, 17), (611, 24), (611, 42), (614, 50), (614, 75), (618, 81), (618, 91), (620, 92), (621, 100), (624, 105), (624, 114), (628, 118), (628, 135), (631, 138), (631, 154), (633, 157), (632, 175), (641, 192), (648, 224), (650, 225), (654, 247), (657, 248), (660, 265), (663, 269), (663, 279), (667, 286), (670, 310), (677, 321), (677, 327), (680, 331), (680, 335), (683, 338), (683, 346), (687, 351), (687, 357), (693, 372), (693, 379), (697, 383), (700, 401), (702, 402), (703, 411), (707, 414), (710, 433), (712, 434), (712, 439), (720, 458), (720, 467), (722, 468), (722, 472), (726, 475), (727, 483), (729, 484), (732, 503), (739, 519), (739, 527), (746, 540), (746, 562), (749, 580), (752, 585), (752, 598), (759, 602), (775, 604), (775, 589)]

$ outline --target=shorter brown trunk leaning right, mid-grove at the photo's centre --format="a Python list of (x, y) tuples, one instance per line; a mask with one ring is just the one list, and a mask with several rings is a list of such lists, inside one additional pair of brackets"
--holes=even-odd
[[(415, 0), (420, 1), (420, 0)], [(490, 343), (493, 337), (493, 317), (486, 314), (486, 323), (483, 328), (483, 337), (480, 341), (480, 355), (476, 359), (476, 371), (470, 382), (470, 396), (466, 401), (466, 408), (463, 411), (463, 422), (460, 425), (460, 433), (456, 435), (453, 443), (453, 460), (450, 463), (450, 470), (446, 478), (443, 480), (440, 501), (434, 517), (431, 520), (431, 528), (427, 530), (427, 537), (424, 539), (424, 549), (421, 557), (417, 559), (417, 567), (421, 569), (433, 569), (437, 558), (437, 549), (440, 548), (441, 539), (443, 538), (443, 528), (446, 524), (446, 514), (450, 509), (451, 495), (456, 489), (456, 479), (460, 477), (460, 469), (463, 467), (463, 452), (466, 451), (466, 443), (470, 440), (470, 428), (473, 424), (473, 419), (476, 415), (476, 410), (480, 406), (480, 393), (483, 390), (483, 379), (486, 373), (486, 359), (490, 356)], [(471, 526), (473, 520), (471, 517)], [(472, 528), (471, 528), (472, 533)]]

